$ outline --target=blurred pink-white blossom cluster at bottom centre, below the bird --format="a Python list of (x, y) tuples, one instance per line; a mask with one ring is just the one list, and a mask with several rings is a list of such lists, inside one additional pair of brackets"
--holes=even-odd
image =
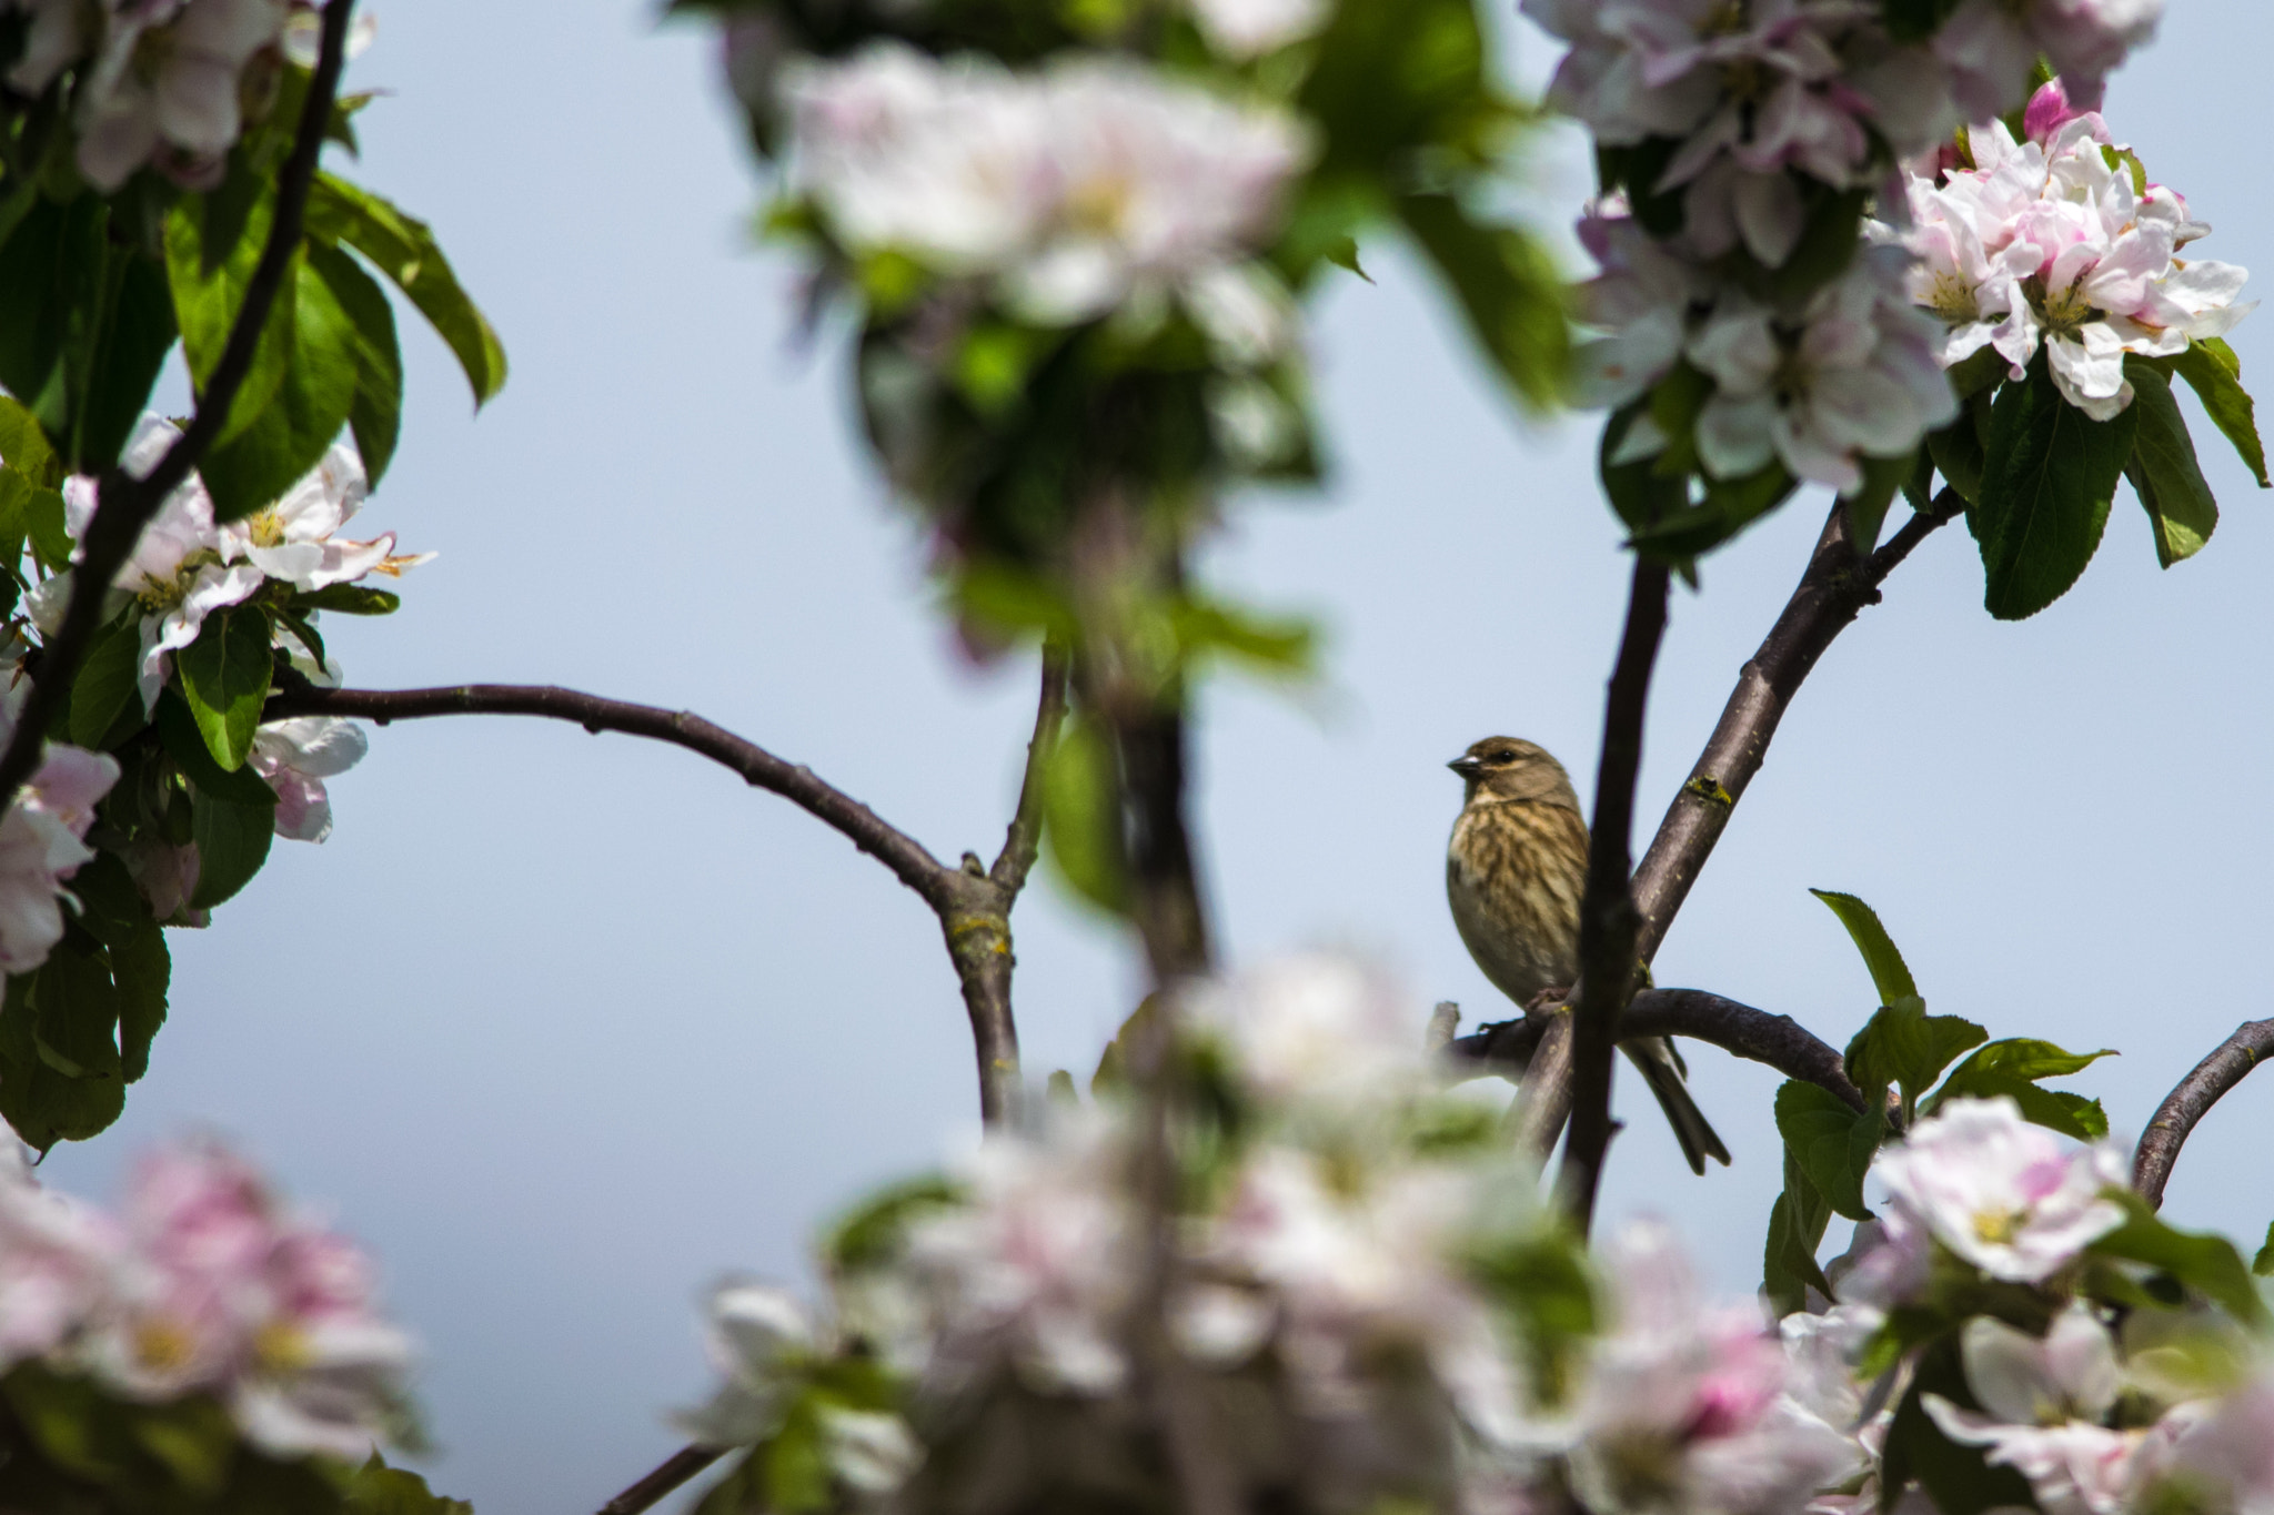
[(1130, 1438), (1169, 1372), (1242, 1506), (1514, 1510), (1569, 1488), (1605, 1515), (1801, 1515), (1865, 1476), (1844, 1363), (1753, 1301), (1715, 1306), (1658, 1224), (1592, 1286), (1496, 1111), (1444, 1088), (1419, 1006), (1378, 974), (1294, 959), (1189, 1013), (1185, 1054), (1237, 1115), (1171, 1140), (1187, 1202), (1164, 1231), (1137, 1111), (1101, 1083), (853, 1220), (828, 1313), (714, 1295), (723, 1386), (682, 1424), (753, 1447), (730, 1479), (819, 1456), (839, 1504), (1105, 1497), (1148, 1476)]

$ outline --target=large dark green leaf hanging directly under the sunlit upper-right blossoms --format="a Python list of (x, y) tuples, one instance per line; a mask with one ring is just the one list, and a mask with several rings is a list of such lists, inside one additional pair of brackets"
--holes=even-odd
[(2063, 400), (2044, 357), (1999, 393), (1976, 507), (1992, 616), (2035, 616), (2085, 572), (2138, 427), (2135, 407), (2092, 420)]

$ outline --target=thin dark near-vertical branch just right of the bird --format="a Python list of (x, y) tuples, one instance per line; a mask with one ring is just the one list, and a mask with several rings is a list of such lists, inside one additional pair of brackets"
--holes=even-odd
[(1578, 1002), (1571, 1008), (1571, 1133), (1558, 1174), (1565, 1208), (1580, 1236), (1594, 1220), (1594, 1192), (1610, 1147), (1610, 1079), (1619, 1015), (1635, 997), (1635, 938), (1642, 918), (1633, 890), (1635, 781), (1642, 775), (1642, 720), (1651, 668), (1667, 634), (1667, 566), (1635, 554), (1626, 631), (1603, 702), (1603, 754), (1587, 827), (1587, 890), (1578, 915)]

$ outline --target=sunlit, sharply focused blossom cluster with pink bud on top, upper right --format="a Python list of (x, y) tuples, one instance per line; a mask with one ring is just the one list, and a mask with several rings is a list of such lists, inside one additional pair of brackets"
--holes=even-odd
[(2133, 400), (2126, 354), (2176, 357), (2256, 302), (2235, 302), (2242, 268), (2178, 257), (2210, 227), (2060, 79), (2031, 98), (2024, 132), (1974, 127), (1967, 161), (1910, 177), (1910, 229), (1874, 232), (1915, 257), (1912, 298), (1947, 325), (1947, 366), (1992, 350), (2019, 379), (2042, 348), (2060, 395), (2110, 420)]

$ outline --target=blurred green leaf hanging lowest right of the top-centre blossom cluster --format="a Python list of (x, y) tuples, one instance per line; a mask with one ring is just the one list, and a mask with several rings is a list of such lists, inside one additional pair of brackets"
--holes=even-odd
[(1399, 218), (1467, 318), (1469, 336), (1530, 409), (1565, 393), (1565, 286), (1549, 254), (1512, 227), (1478, 223), (1451, 195), (1403, 195)]

